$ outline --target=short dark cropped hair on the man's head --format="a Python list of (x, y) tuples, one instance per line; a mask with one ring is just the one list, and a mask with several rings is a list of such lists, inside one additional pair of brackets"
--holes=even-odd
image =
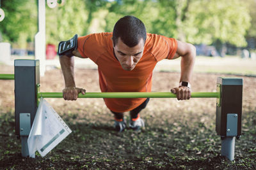
[(113, 44), (117, 43), (118, 38), (121, 38), (123, 43), (129, 47), (138, 45), (141, 38), (144, 43), (147, 38), (147, 31), (143, 22), (133, 16), (127, 15), (120, 18), (113, 29)]

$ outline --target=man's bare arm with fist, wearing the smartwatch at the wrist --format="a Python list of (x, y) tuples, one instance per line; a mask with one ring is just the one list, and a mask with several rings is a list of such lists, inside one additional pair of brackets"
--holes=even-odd
[[(196, 58), (195, 46), (177, 40), (177, 52), (173, 59), (177, 59), (178, 57), (182, 57), (180, 62), (180, 82), (190, 82)], [(188, 87), (175, 87), (171, 89), (171, 92), (177, 95), (178, 100), (189, 99), (191, 97), (191, 89)]]

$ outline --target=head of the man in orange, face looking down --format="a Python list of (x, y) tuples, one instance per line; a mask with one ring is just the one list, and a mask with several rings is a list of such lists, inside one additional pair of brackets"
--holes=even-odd
[(117, 59), (126, 71), (134, 69), (143, 55), (147, 38), (145, 25), (141, 20), (125, 16), (116, 22), (113, 30), (113, 48)]

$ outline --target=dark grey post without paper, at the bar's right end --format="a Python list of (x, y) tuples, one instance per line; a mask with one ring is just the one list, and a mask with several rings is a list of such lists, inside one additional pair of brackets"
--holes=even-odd
[(221, 155), (234, 160), (235, 137), (241, 136), (243, 79), (217, 79), (221, 97), (216, 106), (216, 132), (221, 136)]

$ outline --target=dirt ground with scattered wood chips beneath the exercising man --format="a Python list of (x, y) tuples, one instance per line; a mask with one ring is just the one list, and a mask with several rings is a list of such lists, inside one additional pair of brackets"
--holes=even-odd
[[(193, 92), (216, 92), (218, 76), (230, 77), (193, 74)], [(102, 99), (46, 99), (72, 133), (44, 158), (39, 153), (35, 159), (22, 158), (14, 132), (14, 82), (0, 80), (0, 169), (256, 169), (256, 78), (242, 78), (243, 132), (232, 162), (220, 155), (216, 99), (193, 98), (150, 99), (141, 112), (145, 129), (140, 133), (115, 132), (113, 115)], [(178, 82), (179, 73), (154, 72), (152, 91), (168, 92)], [(41, 92), (61, 92), (61, 70), (48, 70), (40, 84)], [(76, 69), (76, 85), (100, 92), (97, 70)], [(129, 120), (129, 113), (125, 117)]]

